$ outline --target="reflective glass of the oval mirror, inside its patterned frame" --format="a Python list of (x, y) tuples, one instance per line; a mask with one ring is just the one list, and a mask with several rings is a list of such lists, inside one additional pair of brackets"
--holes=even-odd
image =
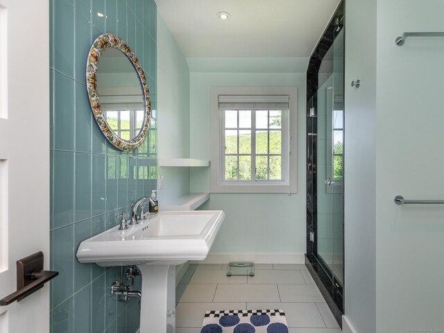
[(135, 139), (144, 126), (144, 91), (139, 75), (119, 49), (102, 52), (97, 66), (97, 92), (103, 116), (121, 139)]

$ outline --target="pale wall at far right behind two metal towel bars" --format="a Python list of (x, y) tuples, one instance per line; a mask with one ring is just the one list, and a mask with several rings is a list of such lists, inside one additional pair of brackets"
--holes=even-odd
[(394, 44), (443, 15), (442, 0), (377, 1), (377, 332), (444, 329), (444, 205), (393, 203), (444, 199), (444, 38)]

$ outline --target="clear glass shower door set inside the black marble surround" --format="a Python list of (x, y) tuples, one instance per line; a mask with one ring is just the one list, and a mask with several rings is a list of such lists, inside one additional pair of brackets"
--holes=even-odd
[[(343, 34), (336, 35), (325, 56), (323, 82), (316, 93), (317, 203), (316, 255), (339, 291), (343, 287), (344, 112)], [(330, 69), (330, 70), (329, 70)]]

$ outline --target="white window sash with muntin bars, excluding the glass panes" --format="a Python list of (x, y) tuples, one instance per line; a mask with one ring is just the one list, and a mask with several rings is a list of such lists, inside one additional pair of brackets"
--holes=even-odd
[[(287, 96), (288, 98), (288, 96)], [(225, 127), (225, 111), (236, 110), (237, 111), (237, 127), (226, 128)], [(239, 127), (239, 110), (250, 110), (251, 114), (251, 127)], [(268, 128), (256, 128), (256, 112), (259, 110), (268, 111)], [(270, 128), (270, 110), (280, 110), (281, 113), (281, 128)], [(219, 103), (219, 123), (220, 123), (220, 135), (221, 135), (221, 148), (220, 148), (220, 167), (221, 167), (221, 183), (226, 185), (235, 185), (239, 183), (244, 184), (262, 184), (262, 185), (280, 185), (285, 184), (289, 181), (289, 104), (288, 103)], [(225, 153), (225, 130), (237, 130), (237, 153)], [(251, 146), (250, 153), (239, 153), (239, 130), (250, 130), (251, 133)], [(267, 131), (267, 153), (256, 153), (256, 131), (266, 130)], [(275, 154), (270, 153), (270, 132), (271, 131), (281, 132), (281, 153)], [(225, 170), (225, 156), (236, 156), (237, 157), (237, 179), (227, 180), (226, 170)], [(251, 156), (251, 180), (239, 180), (239, 156)], [(266, 156), (267, 157), (267, 179), (256, 179), (257, 169), (256, 169), (256, 157)], [(270, 157), (280, 156), (281, 157), (281, 179), (273, 180), (270, 178)]]

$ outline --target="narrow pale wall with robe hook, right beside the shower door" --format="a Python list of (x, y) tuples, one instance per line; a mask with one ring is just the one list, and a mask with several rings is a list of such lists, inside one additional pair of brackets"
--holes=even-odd
[(357, 333), (377, 332), (375, 46), (376, 0), (345, 1), (344, 293)]

